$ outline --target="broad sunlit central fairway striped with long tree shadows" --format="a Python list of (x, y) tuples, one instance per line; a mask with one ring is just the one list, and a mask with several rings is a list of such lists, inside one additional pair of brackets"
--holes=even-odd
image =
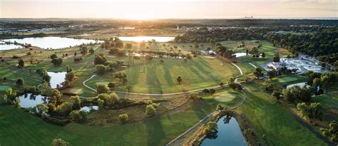
[[(135, 93), (178, 93), (185, 90), (208, 88), (226, 83), (228, 78), (240, 75), (235, 66), (229, 63), (223, 64), (217, 58), (205, 58), (198, 56), (193, 60), (184, 62), (179, 59), (163, 58), (160, 63), (154, 58), (149, 63), (140, 63), (126, 68), (128, 84), (132, 86), (131, 92)], [(176, 78), (180, 75), (183, 83), (178, 84)], [(95, 77), (88, 81), (88, 85), (96, 88), (98, 83), (116, 81), (111, 76)], [(125, 91), (126, 85), (118, 85), (116, 90)]]

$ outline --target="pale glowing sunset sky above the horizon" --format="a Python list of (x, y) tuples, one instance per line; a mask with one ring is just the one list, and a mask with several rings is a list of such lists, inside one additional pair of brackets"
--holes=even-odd
[(0, 0), (0, 18), (338, 18), (338, 0)]

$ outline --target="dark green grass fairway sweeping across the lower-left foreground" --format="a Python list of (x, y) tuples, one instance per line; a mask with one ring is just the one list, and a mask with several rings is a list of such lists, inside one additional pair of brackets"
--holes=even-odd
[(0, 145), (50, 145), (60, 137), (71, 145), (165, 145), (215, 109), (208, 101), (182, 112), (112, 127), (48, 124), (29, 113), (0, 105)]

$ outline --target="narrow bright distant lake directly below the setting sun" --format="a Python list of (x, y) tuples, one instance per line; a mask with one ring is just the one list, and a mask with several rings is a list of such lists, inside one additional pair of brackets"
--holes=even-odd
[(121, 41), (151, 41), (155, 39), (157, 42), (168, 42), (172, 41), (175, 37), (171, 36), (120, 36), (118, 37)]

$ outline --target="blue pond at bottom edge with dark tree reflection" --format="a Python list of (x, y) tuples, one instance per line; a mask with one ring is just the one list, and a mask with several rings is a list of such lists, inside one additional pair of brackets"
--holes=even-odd
[(217, 131), (215, 137), (205, 138), (201, 145), (247, 145), (245, 137), (240, 130), (240, 125), (231, 116), (225, 115), (217, 121)]

